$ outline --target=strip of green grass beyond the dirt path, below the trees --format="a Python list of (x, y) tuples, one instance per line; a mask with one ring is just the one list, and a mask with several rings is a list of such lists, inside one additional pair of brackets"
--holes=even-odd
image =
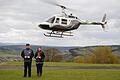
[[(5, 62), (0, 65), (9, 65), (9, 66), (20, 66), (23, 65), (23, 62)], [(35, 65), (35, 61), (33, 61), (32, 65)], [(80, 64), (80, 63), (73, 63), (73, 62), (45, 62), (44, 66), (93, 66), (93, 67), (113, 67), (113, 68), (120, 68), (120, 64)]]

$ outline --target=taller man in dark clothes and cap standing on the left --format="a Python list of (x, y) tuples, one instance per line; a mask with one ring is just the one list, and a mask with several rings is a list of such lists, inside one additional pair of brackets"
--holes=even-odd
[(31, 64), (34, 53), (30, 44), (26, 44), (26, 49), (22, 51), (21, 56), (24, 58), (24, 77), (27, 77), (27, 70), (28, 77), (31, 77)]

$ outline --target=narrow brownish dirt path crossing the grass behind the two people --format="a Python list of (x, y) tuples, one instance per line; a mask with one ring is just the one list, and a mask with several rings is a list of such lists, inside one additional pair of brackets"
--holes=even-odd
[[(36, 68), (36, 66), (32, 66)], [(43, 66), (43, 68), (50, 69), (113, 69), (120, 70), (120, 68), (110, 67), (110, 66)], [(0, 69), (23, 69), (23, 66), (0, 66)]]

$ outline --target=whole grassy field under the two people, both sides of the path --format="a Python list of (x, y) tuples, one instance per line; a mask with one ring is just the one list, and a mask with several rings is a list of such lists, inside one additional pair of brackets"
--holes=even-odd
[[(34, 62), (31, 78), (23, 77), (23, 62), (7, 62), (0, 64), (0, 66), (8, 66), (8, 68), (0, 69), (0, 80), (120, 80), (120, 64), (46, 62), (44, 64), (45, 67), (41, 78), (36, 76)], [(11, 66), (16, 67), (10, 68)], [(76, 69), (76, 67), (80, 68)], [(81, 67), (87, 67), (88, 69), (81, 69)], [(89, 69), (89, 67), (93, 67), (93, 69)], [(96, 69), (98, 67), (101, 69)]]

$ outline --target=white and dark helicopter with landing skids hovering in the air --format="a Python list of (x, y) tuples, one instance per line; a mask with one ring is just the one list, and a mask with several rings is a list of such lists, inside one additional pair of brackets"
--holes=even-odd
[(49, 18), (47, 21), (40, 23), (38, 26), (44, 30), (50, 30), (51, 32), (44, 33), (46, 37), (58, 37), (63, 38), (63, 36), (73, 36), (73, 30), (79, 28), (80, 25), (100, 25), (103, 30), (105, 29), (106, 14), (104, 14), (102, 21), (100, 22), (91, 22), (88, 20), (80, 20), (77, 16), (74, 16), (72, 13), (66, 13), (66, 10), (71, 10), (66, 6), (60, 4), (54, 4), (59, 6), (62, 9), (62, 14), (54, 15)]

